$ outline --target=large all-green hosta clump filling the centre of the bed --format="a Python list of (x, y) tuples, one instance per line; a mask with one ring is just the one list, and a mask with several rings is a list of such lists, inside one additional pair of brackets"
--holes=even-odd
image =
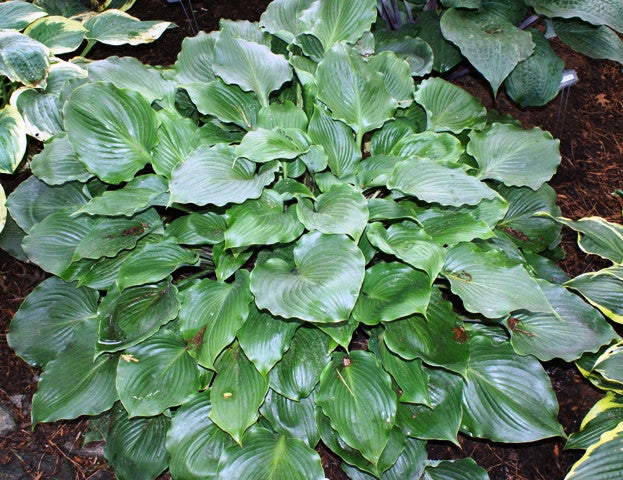
[(322, 479), (322, 441), (353, 479), (484, 479), (426, 441), (562, 435), (539, 360), (615, 337), (533, 217), (558, 142), (416, 87), (375, 2), (308, 3), (85, 65), (8, 200), (54, 274), (8, 337), (33, 424), (109, 415), (119, 478)]

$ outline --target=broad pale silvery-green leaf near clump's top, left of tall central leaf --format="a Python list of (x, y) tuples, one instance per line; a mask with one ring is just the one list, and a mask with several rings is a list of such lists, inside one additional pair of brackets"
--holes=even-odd
[(264, 107), (270, 93), (292, 79), (285, 57), (266, 45), (225, 34), (216, 41), (213, 69), (226, 83), (255, 92)]

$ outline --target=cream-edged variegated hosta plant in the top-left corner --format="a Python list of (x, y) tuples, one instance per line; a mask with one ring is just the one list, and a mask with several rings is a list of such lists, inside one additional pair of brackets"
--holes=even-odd
[[(153, 42), (169, 22), (140, 21), (125, 13), (135, 0), (10, 0), (0, 3), (0, 76), (21, 86), (10, 105), (0, 105), (0, 173), (13, 172), (24, 157), (26, 138), (45, 141), (62, 130), (65, 81), (77, 80), (77, 64), (56, 55), (97, 42)], [(77, 62), (76, 62), (77, 63)], [(86, 75), (83, 75), (86, 76)]]

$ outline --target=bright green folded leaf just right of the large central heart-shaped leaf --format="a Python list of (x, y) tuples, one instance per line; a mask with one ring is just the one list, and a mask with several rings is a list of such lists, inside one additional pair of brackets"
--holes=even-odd
[(433, 239), (414, 222), (396, 223), (387, 230), (381, 223), (373, 223), (366, 235), (370, 243), (383, 252), (426, 272), (430, 284), (443, 268), (444, 249), (433, 243)]

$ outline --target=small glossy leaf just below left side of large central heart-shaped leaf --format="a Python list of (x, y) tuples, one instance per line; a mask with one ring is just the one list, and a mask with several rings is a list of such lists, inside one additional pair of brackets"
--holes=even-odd
[(295, 321), (259, 312), (252, 304), (249, 317), (236, 336), (247, 358), (265, 376), (290, 348), (290, 342), (299, 325)]

